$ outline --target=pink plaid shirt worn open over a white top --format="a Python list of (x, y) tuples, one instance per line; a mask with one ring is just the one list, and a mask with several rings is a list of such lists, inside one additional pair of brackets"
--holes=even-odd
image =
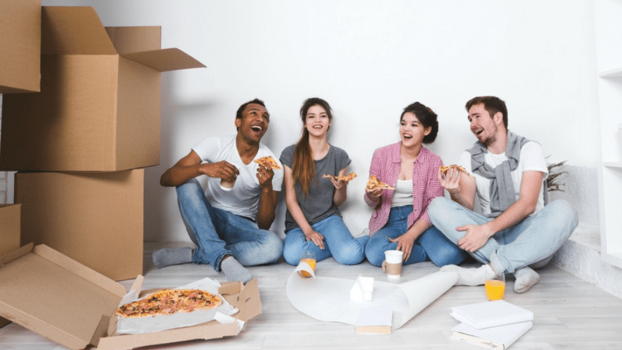
[[(378, 148), (372, 157), (369, 176), (376, 175), (380, 181), (395, 187), (402, 165), (401, 144), (402, 141)], [(441, 165), (443, 165), (443, 161), (438, 155), (425, 147), (421, 147), (419, 157), (413, 166), (413, 212), (408, 217), (409, 228), (420, 218), (430, 223), (430, 218), (427, 216), (427, 206), (435, 197), (444, 195), (444, 190), (437, 176), (437, 169)], [(383, 190), (379, 202), (369, 199), (367, 192), (363, 198), (367, 205), (374, 209), (372, 218), (369, 219), (369, 234), (373, 235), (389, 219), (393, 190)]]

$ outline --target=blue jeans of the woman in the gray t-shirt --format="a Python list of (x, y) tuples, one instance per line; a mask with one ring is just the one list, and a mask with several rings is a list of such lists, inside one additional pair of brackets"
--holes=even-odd
[(329, 216), (314, 223), (311, 228), (324, 236), (324, 249), (313, 244), (313, 241), (307, 241), (300, 228), (289, 230), (283, 241), (283, 258), (290, 265), (298, 265), (303, 251), (316, 253), (316, 261), (332, 256), (343, 265), (355, 265), (365, 258), (365, 243), (369, 237), (352, 237), (341, 216)]

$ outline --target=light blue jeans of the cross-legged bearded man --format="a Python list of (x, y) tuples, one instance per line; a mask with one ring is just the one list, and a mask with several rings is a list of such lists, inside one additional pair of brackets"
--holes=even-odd
[[(465, 231), (462, 225), (482, 225), (492, 221), (445, 197), (434, 198), (427, 208), (432, 223), (456, 244)], [(470, 253), (482, 264), (493, 265), (497, 274), (514, 273), (525, 266), (542, 267), (577, 228), (577, 211), (564, 200), (549, 203), (534, 216), (497, 232), (478, 251)]]

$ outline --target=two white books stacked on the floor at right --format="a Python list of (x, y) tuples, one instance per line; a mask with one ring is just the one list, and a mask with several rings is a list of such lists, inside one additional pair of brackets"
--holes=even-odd
[(462, 322), (452, 336), (487, 349), (507, 349), (532, 328), (531, 311), (504, 300), (452, 307), (451, 316)]

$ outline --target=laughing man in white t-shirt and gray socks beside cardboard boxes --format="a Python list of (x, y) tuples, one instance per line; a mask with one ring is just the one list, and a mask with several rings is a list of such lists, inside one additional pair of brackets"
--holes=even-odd
[[(242, 104), (237, 134), (209, 137), (192, 148), (160, 178), (176, 187), (179, 209), (190, 239), (198, 248), (164, 248), (152, 255), (156, 267), (195, 262), (224, 272), (229, 281), (253, 278), (244, 266), (276, 262), (281, 239), (269, 231), (274, 221), (283, 166), (260, 141), (270, 115), (259, 99)], [(253, 162), (271, 156), (281, 169)], [(198, 176), (207, 176), (203, 189)]]

